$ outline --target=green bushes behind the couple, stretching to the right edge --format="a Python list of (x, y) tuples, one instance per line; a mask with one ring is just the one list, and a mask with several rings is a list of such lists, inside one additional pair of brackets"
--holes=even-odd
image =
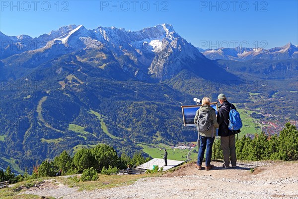
[[(298, 160), (298, 130), (296, 126), (286, 123), (279, 136), (262, 133), (256, 134), (253, 139), (247, 136), (236, 138), (236, 155), (239, 160)], [(213, 158), (223, 158), (220, 139), (213, 145)]]

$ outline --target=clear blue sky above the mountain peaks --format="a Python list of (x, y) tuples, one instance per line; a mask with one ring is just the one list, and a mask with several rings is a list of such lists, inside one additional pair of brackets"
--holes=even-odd
[(9, 36), (69, 24), (136, 31), (162, 23), (203, 49), (298, 45), (298, 0), (0, 0), (0, 31)]

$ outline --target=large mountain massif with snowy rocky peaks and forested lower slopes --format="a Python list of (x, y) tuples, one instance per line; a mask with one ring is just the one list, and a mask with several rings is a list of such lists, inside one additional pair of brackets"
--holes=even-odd
[[(297, 60), (282, 53), (295, 51), (291, 44), (275, 50), (284, 59), (211, 60), (169, 24), (140, 31), (69, 25), (37, 38), (0, 32), (0, 43), (2, 168), (12, 161), (30, 170), (63, 150), (98, 143), (132, 155), (142, 150), (138, 143), (194, 141), (180, 107), (194, 97), (225, 93), (243, 108), (296, 114), (287, 104), (296, 100)], [(279, 90), (293, 99), (269, 105)]]

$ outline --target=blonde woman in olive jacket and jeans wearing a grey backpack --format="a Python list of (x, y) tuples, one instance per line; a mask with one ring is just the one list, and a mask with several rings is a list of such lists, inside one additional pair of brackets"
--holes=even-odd
[(214, 137), (216, 136), (216, 129), (219, 128), (217, 122), (215, 109), (210, 106), (210, 99), (203, 98), (202, 106), (196, 112), (194, 123), (198, 127), (199, 139), (200, 139), (200, 149), (198, 152), (198, 161), (195, 167), (202, 170), (202, 162), (204, 159), (204, 153), (206, 150), (206, 170), (210, 170), (214, 167), (211, 162), (212, 146), (214, 143)]

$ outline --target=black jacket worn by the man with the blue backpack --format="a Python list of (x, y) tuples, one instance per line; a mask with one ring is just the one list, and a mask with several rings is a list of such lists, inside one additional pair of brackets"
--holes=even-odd
[(219, 136), (230, 136), (230, 135), (234, 135), (237, 133), (240, 133), (240, 130), (237, 131), (231, 131), (228, 129), (227, 125), (228, 125), (228, 120), (229, 120), (229, 110), (230, 108), (233, 108), (235, 110), (236, 107), (231, 104), (230, 102), (228, 102), (227, 100), (224, 101), (224, 103), (219, 107), (219, 112), (218, 112), (218, 117), (217, 117), (217, 121), (220, 125), (219, 127)]

